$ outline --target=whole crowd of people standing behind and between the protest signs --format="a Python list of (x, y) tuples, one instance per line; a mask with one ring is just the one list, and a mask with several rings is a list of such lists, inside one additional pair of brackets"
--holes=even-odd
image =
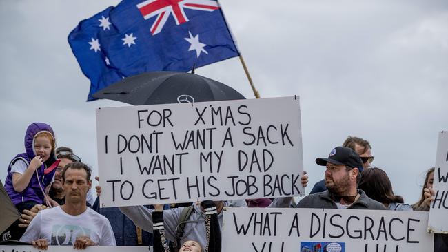
[[(292, 198), (225, 200), (184, 206), (156, 204), (111, 208), (103, 214), (93, 200), (91, 169), (69, 147), (56, 148), (50, 125), (32, 123), (25, 136), (26, 152), (8, 166), (5, 189), (21, 218), (1, 238), (20, 240), (39, 249), (48, 245), (152, 246), (155, 252), (221, 251), (221, 227), (226, 207), (298, 207), (429, 211), (434, 197), (434, 168), (427, 171), (420, 200), (405, 204), (394, 194), (386, 171), (372, 167), (367, 140), (349, 136), (327, 158), (323, 180), (294, 203)], [(303, 174), (303, 186), (307, 176)], [(96, 187), (101, 195), (101, 187)], [(143, 230), (142, 230), (143, 229)], [(448, 235), (434, 236), (434, 251), (448, 251)]]

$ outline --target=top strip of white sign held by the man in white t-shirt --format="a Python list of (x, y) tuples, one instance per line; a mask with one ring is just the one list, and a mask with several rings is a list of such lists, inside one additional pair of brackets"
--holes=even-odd
[[(48, 246), (46, 252), (79, 252), (79, 249), (73, 249), (73, 246)], [(88, 246), (86, 252), (152, 252), (147, 246)], [(35, 249), (32, 246), (24, 245), (0, 245), (0, 252), (42, 252), (41, 249)]]

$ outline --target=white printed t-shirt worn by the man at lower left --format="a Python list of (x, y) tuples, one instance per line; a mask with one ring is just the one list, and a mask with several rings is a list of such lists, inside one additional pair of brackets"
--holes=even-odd
[(90, 207), (78, 216), (65, 213), (61, 207), (39, 211), (20, 241), (31, 243), (43, 238), (49, 245), (72, 246), (79, 236), (88, 236), (99, 246), (116, 246), (109, 220)]

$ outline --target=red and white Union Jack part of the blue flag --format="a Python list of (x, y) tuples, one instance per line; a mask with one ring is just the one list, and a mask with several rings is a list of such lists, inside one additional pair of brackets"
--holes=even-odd
[(151, 26), (151, 33), (153, 35), (162, 30), (170, 14), (172, 14), (174, 21), (176, 21), (176, 25), (188, 22), (188, 17), (183, 10), (184, 8), (205, 10), (208, 12), (219, 8), (218, 2), (211, 0), (147, 0), (139, 3), (137, 7), (145, 19), (157, 16)]

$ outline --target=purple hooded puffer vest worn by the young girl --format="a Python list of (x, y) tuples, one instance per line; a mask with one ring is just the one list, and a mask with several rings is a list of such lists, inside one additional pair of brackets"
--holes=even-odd
[(8, 196), (10, 196), (12, 203), (16, 205), (26, 201), (34, 201), (38, 204), (43, 204), (45, 197), (42, 193), (42, 190), (45, 191), (45, 187), (50, 185), (52, 178), (54, 176), (54, 172), (56, 171), (56, 169), (54, 169), (49, 174), (44, 175), (43, 173), (45, 167), (49, 167), (50, 165), (52, 165), (54, 161), (56, 161), (56, 156), (54, 155), (54, 149), (52, 149), (50, 158), (48, 158), (48, 160), (45, 161), (45, 163), (41, 165), (41, 167), (36, 169), (37, 174), (39, 174), (39, 178), (38, 176), (36, 176), (36, 173), (34, 172), (26, 189), (24, 189), (21, 193), (14, 190), (14, 187), (12, 185), (11, 167), (12, 165), (14, 165), (14, 162), (16, 162), (19, 159), (26, 162), (27, 166), (30, 165), (32, 158), (36, 156), (36, 154), (34, 153), (34, 138), (39, 132), (49, 132), (50, 134), (52, 134), (54, 140), (53, 129), (50, 127), (50, 125), (47, 125), (45, 123), (32, 123), (30, 126), (28, 126), (28, 129), (26, 129), (25, 134), (26, 153), (18, 154), (17, 156), (15, 156), (11, 160), (10, 165), (8, 167), (8, 176), (6, 177), (5, 180), (5, 189), (6, 192), (8, 192)]

